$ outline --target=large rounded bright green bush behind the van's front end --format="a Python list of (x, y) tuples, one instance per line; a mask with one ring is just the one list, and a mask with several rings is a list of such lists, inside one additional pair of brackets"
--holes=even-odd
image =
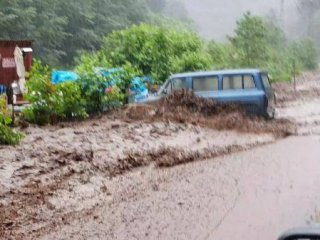
[(100, 51), (82, 55), (78, 63), (78, 71), (129, 63), (158, 82), (175, 72), (211, 66), (204, 41), (196, 33), (147, 24), (112, 32)]

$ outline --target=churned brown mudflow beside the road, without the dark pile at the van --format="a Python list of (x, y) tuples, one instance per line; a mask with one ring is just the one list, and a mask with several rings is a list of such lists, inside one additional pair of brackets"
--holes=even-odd
[(20, 146), (0, 149), (0, 239), (46, 238), (74, 219), (93, 217), (100, 207), (134, 197), (135, 185), (130, 192), (116, 182), (132, 171), (157, 171), (277, 139), (273, 133), (170, 121), (126, 123), (109, 116), (29, 127), (26, 134)]

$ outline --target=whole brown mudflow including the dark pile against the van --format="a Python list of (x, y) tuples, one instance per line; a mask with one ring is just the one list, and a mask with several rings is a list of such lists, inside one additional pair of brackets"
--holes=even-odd
[(25, 131), (20, 146), (0, 148), (0, 239), (37, 238), (90, 215), (112, 200), (110, 178), (129, 170), (250, 149), (295, 127), (177, 92), (156, 105)]

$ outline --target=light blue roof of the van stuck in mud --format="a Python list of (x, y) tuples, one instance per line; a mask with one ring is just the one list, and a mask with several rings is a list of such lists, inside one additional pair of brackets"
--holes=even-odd
[(178, 73), (171, 76), (171, 78), (182, 78), (182, 77), (201, 77), (209, 75), (228, 75), (228, 74), (256, 74), (264, 73), (260, 69), (229, 69), (219, 71), (205, 71), (205, 72), (189, 72), (189, 73)]

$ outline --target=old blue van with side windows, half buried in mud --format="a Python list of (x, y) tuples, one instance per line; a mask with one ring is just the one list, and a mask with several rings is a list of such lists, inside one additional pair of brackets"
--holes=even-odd
[(175, 74), (160, 88), (157, 96), (149, 100), (181, 89), (217, 102), (244, 105), (249, 113), (256, 115), (272, 118), (275, 114), (275, 95), (268, 74), (259, 69)]

